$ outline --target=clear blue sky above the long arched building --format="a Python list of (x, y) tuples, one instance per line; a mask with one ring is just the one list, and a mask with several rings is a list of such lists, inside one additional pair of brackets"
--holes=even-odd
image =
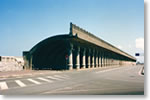
[(134, 56), (144, 39), (144, 0), (0, 0), (0, 55), (21, 56), (69, 23)]

